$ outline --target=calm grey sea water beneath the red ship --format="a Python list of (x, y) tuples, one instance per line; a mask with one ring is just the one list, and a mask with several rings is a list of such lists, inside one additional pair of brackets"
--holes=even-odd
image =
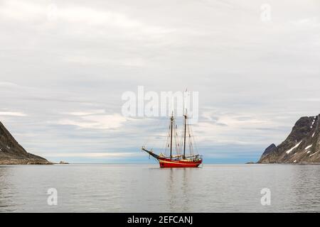
[(319, 176), (320, 165), (0, 166), (0, 212), (319, 212)]

